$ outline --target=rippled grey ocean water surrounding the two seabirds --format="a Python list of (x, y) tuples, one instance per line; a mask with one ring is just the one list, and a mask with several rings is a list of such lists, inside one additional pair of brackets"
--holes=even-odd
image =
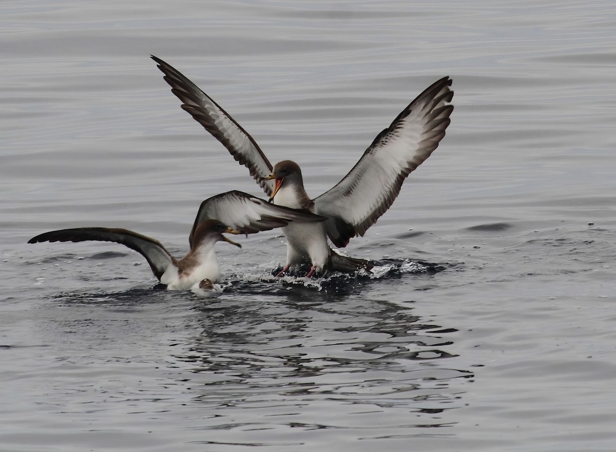
[[(0, 4), (0, 450), (616, 450), (611, 1)], [(446, 268), (318, 291), (152, 289), (201, 200), (262, 195), (149, 55), (318, 195), (453, 78), (439, 149), (352, 256)], [(279, 232), (219, 244), (228, 280)]]

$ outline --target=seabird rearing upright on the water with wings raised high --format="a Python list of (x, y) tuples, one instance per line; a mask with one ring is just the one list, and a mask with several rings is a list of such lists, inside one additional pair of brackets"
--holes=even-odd
[(323, 223), (294, 222), (283, 228), (288, 240), (287, 257), (278, 276), (291, 266), (306, 262), (311, 265), (307, 276), (315, 271), (369, 269), (366, 260), (333, 251), (327, 238), (343, 248), (352, 237), (363, 236), (389, 209), (408, 174), (438, 147), (451, 122), (452, 79), (444, 77), (419, 94), (376, 136), (338, 184), (310, 199), (298, 164), (285, 160), (272, 167), (253, 137), (220, 105), (168, 63), (153, 55), (152, 59), (158, 63), (173, 94), (182, 101), (182, 108), (248, 168), (270, 201), (328, 218)]

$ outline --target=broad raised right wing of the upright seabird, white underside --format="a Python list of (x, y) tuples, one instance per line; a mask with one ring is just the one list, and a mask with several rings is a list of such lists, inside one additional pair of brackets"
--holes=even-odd
[(315, 198), (315, 212), (339, 247), (363, 235), (394, 202), (402, 182), (434, 151), (450, 123), (452, 80), (442, 78), (384, 129), (335, 187)]

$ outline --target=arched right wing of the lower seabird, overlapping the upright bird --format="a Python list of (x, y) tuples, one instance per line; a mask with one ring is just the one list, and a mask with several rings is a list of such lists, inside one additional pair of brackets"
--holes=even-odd
[(219, 220), (230, 228), (247, 234), (283, 227), (293, 220), (326, 220), (325, 217), (310, 211), (276, 206), (248, 193), (237, 191), (221, 193), (201, 203), (190, 231), (190, 248), (193, 245), (195, 228), (209, 219)]

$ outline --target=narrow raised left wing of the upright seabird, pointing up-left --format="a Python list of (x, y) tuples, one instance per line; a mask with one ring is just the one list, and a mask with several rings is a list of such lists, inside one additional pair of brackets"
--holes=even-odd
[(246, 166), (257, 184), (263, 188), (267, 196), (270, 196), (274, 190), (274, 181), (262, 178), (269, 176), (272, 172), (272, 164), (269, 163), (253, 137), (180, 71), (154, 55), (152, 59), (163, 71), (165, 81), (171, 86), (171, 92), (183, 102), (182, 108), (205, 127), (206, 131), (214, 135), (229, 150), (234, 159)]

